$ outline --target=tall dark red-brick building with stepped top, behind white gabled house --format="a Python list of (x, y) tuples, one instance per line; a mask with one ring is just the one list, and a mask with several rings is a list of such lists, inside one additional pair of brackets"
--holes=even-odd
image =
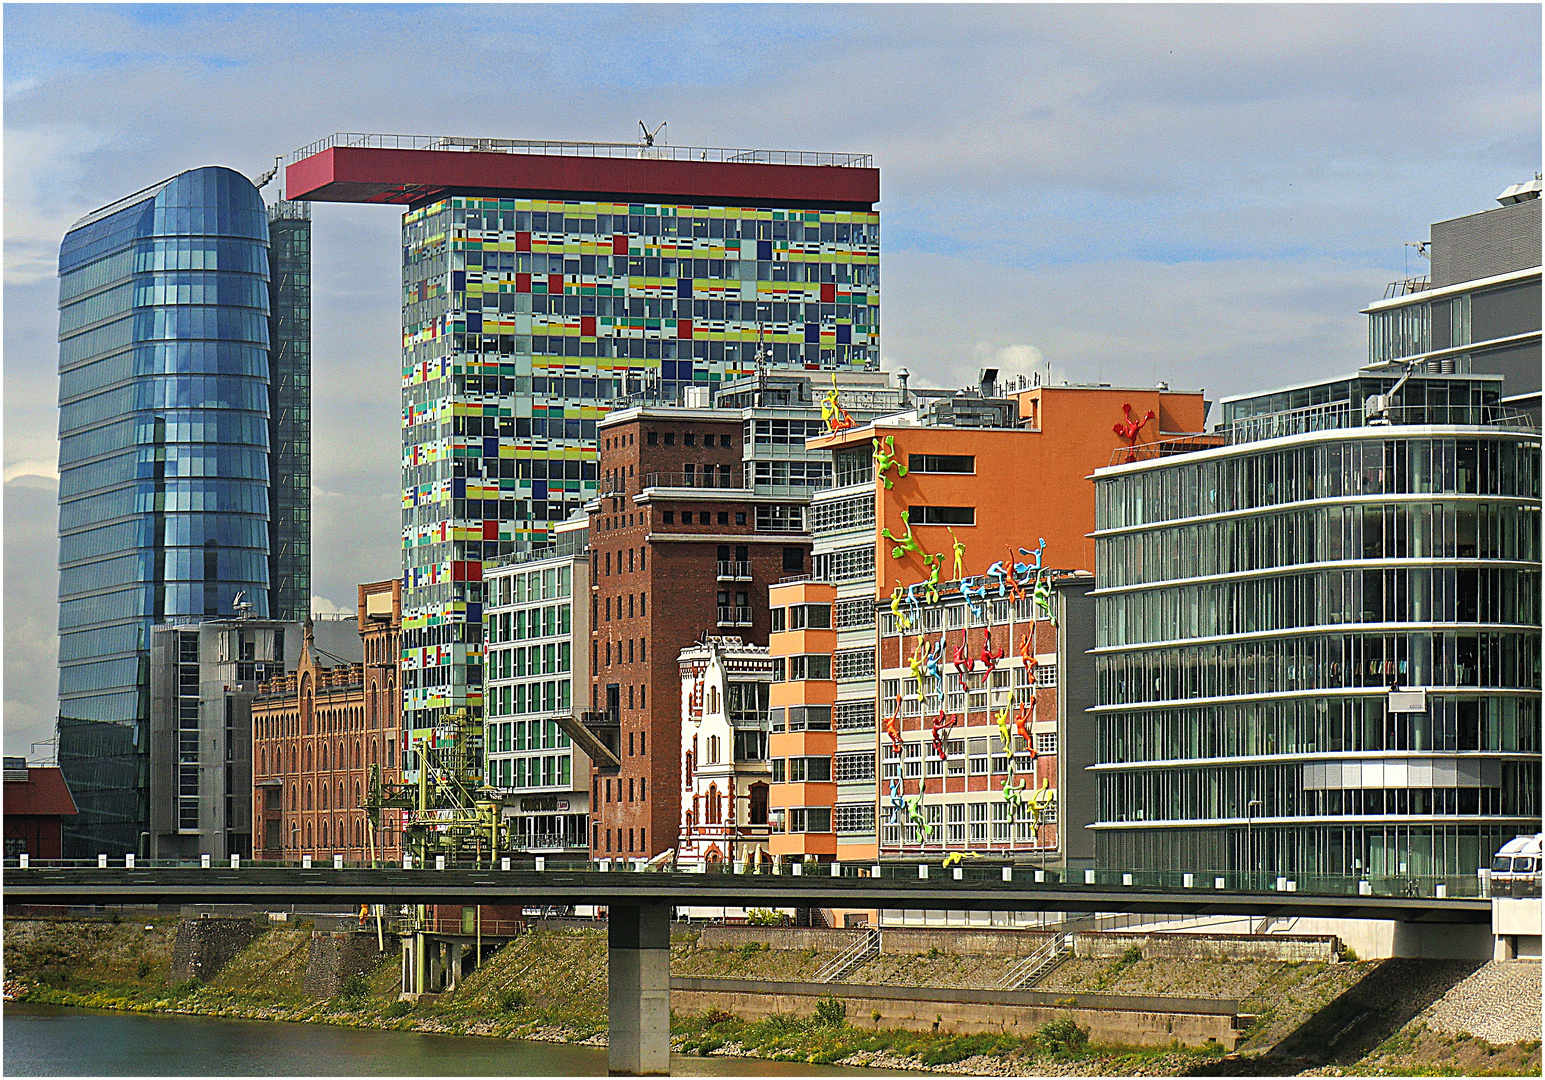
[(766, 644), (768, 586), (810, 570), (803, 515), (752, 494), (740, 409), (630, 408), (599, 426), (590, 513), (590, 714), (616, 769), (592, 773), (593, 858), (647, 858), (681, 819), (683, 647)]

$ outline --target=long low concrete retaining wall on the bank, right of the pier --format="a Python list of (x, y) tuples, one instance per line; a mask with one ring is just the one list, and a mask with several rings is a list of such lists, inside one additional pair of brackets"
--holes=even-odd
[[(1231, 1007), (1227, 1012), (1207, 1014), (1060, 1007), (1006, 1001), (941, 1001), (901, 997), (893, 992), (921, 990), (922, 993), (947, 995), (949, 990), (845, 986), (840, 983), (820, 987), (799, 983), (763, 983), (760, 990), (740, 990), (728, 986), (712, 990), (686, 989), (688, 986), (712, 983), (743, 984), (746, 980), (671, 980), (672, 1007), (683, 1012), (723, 1009), (746, 1020), (760, 1020), (772, 1014), (810, 1015), (819, 998), (834, 997), (847, 1004), (848, 1023), (859, 1029), (902, 1027), (946, 1034), (1004, 1032), (1023, 1037), (1035, 1034), (1052, 1020), (1071, 1017), (1080, 1027), (1089, 1029), (1089, 1038), (1095, 1043), (1165, 1046), (1179, 1041), (1187, 1046), (1204, 1046), (1208, 1041), (1216, 1041), (1231, 1051), (1241, 1037), (1241, 1031), (1236, 1029), (1239, 1020)], [(1233, 1003), (1228, 1004), (1233, 1006)]]

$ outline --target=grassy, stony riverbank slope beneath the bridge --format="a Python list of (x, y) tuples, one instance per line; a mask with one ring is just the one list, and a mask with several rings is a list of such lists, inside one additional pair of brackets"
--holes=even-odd
[[(25, 987), (29, 1001), (39, 1003), (606, 1046), (606, 933), (599, 929), (527, 933), (491, 953), (454, 995), (408, 1003), (397, 1000), (400, 975), (392, 941), (372, 969), (343, 980), (329, 997), (318, 997), (307, 992), (306, 984), (312, 947), (312, 933), (306, 925), (267, 929), (207, 981), (173, 983), (176, 927), (176, 919), (119, 924), (8, 919), (6, 975)], [(777, 932), (768, 936), (777, 942)], [(808, 978), (808, 972), (825, 959), (817, 949), (769, 949), (766, 942), (703, 947), (695, 933), (680, 933), (672, 941), (672, 973), (677, 976)], [(1069, 995), (1238, 998), (1248, 1026), (1234, 1054), (1225, 1054), (1216, 1044), (1136, 1048), (1092, 1043), (1089, 1029), (1074, 1020), (1072, 997), (1066, 1000), (1068, 1009), (1029, 1031), (1004, 1026), (961, 1034), (938, 1021), (933, 1031), (905, 1031), (888, 1026), (879, 1015), (850, 1015), (842, 998), (845, 993), (851, 998), (859, 987), (847, 984), (833, 984), (828, 998), (806, 998), (797, 1012), (734, 1015), (723, 1009), (686, 1012), (678, 1007), (672, 1014), (672, 1038), (680, 1052), (697, 1057), (969, 1075), (1284, 1074), (1310, 1071), (1330, 1061), (1343, 1071), (1357, 1072), (1364, 1057), (1372, 1065), (1375, 1051), (1384, 1055), (1383, 1061), (1394, 1061), (1418, 1049), (1465, 1061), (1475, 1066), (1472, 1071), (1539, 1074), (1537, 1040), (1533, 1046), (1522, 1041), (1486, 1052), (1494, 1044), (1469, 1035), (1412, 1035), (1417, 1014), (1455, 987), (1474, 966), (1421, 969), (1431, 975), (1429, 989), (1421, 990), (1426, 997), (1411, 998), (1407, 1012), (1378, 1014), (1377, 1023), (1363, 1020), (1364, 1034), (1372, 1041), (1355, 1054), (1296, 1057), (1298, 1051), (1292, 1048), (1299, 1043), (1313, 1049), (1315, 1040), (1306, 1037), (1316, 1029), (1316, 1020), (1329, 1023), (1338, 1004), (1357, 1000), (1360, 987), (1389, 981), (1411, 986), (1409, 973), (1397, 978), (1395, 969), (1387, 967), (1409, 963), (1414, 961), (1202, 963), (1142, 959), (1136, 950), (1128, 950), (1106, 959), (1068, 961), (1040, 987)], [(995, 973), (987, 967), (993, 963), (930, 949), (878, 958), (870, 970), (850, 978), (870, 984), (949, 987), (993, 980)], [(1374, 975), (1380, 978), (1370, 978)], [(1537, 989), (1534, 998), (1537, 1001)], [(1341, 1020), (1335, 1027), (1344, 1024), (1346, 1020)], [(927, 1027), (925, 1023), (922, 1026)], [(1452, 1049), (1458, 1043), (1465, 1044), (1458, 1048), (1463, 1054), (1448, 1054), (1445, 1048)], [(1295, 1057), (1284, 1057), (1289, 1051)]]

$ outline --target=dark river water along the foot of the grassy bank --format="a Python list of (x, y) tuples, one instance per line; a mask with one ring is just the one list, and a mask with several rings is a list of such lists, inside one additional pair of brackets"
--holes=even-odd
[[(907, 1075), (882, 1069), (671, 1057), (674, 1075)], [(511, 1038), (5, 1006), (8, 1077), (604, 1077), (606, 1051)]]

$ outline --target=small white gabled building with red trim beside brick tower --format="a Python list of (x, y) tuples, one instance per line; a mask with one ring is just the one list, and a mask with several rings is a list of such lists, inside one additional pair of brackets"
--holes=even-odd
[(681, 830), (677, 864), (766, 859), (766, 646), (708, 637), (681, 650)]

